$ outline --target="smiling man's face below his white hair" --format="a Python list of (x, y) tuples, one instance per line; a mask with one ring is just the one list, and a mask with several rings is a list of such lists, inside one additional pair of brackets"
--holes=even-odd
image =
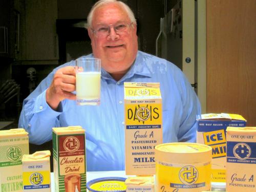
[[(97, 8), (94, 11), (92, 28), (98, 29), (101, 25), (115, 25), (120, 22), (131, 24), (127, 13), (117, 4), (108, 4)], [(91, 29), (88, 30), (91, 38), (93, 54), (100, 58), (102, 68), (115, 76), (124, 75), (136, 58), (138, 41), (136, 25), (133, 24), (125, 33), (118, 33), (113, 27), (110, 33), (99, 36)]]

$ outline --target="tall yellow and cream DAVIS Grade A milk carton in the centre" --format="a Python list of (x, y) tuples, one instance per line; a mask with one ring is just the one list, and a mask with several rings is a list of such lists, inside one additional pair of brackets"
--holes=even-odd
[(125, 173), (154, 175), (155, 146), (162, 143), (159, 83), (124, 82)]

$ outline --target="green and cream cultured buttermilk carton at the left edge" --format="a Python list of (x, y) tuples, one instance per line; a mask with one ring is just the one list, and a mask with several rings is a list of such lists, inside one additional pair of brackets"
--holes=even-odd
[(0, 131), (0, 192), (23, 191), (24, 154), (29, 154), (29, 138), (24, 129)]

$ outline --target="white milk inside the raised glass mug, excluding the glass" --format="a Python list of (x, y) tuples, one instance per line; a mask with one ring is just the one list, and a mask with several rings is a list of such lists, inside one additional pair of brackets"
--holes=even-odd
[(77, 99), (93, 100), (100, 98), (100, 73), (77, 73), (76, 92)]

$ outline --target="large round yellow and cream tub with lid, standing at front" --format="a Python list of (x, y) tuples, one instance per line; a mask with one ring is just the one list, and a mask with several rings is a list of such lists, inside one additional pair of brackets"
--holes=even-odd
[(199, 143), (157, 145), (156, 191), (210, 190), (211, 151)]

